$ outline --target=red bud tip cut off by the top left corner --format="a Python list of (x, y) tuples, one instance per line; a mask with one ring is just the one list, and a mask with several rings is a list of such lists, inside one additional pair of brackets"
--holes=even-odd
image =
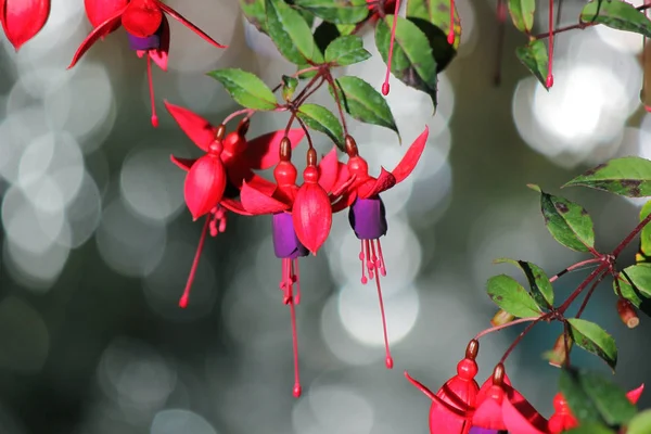
[(18, 51), (46, 25), (50, 15), (50, 0), (2, 0), (0, 21), (7, 39)]

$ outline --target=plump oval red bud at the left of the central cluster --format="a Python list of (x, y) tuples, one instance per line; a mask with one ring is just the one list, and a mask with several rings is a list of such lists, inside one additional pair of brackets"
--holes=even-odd
[(213, 209), (224, 195), (226, 171), (221, 159), (214, 155), (199, 158), (186, 177), (186, 204), (196, 220)]

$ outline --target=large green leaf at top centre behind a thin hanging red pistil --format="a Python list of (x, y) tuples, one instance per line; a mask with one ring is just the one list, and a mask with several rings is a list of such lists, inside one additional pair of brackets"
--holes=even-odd
[[(375, 44), (386, 63), (394, 16), (386, 15), (375, 26)], [(393, 75), (405, 85), (430, 95), (436, 110), (436, 61), (427, 37), (416, 24), (398, 16), (391, 66)]]

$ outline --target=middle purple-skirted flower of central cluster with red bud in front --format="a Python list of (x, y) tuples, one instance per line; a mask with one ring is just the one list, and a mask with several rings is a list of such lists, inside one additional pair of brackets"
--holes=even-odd
[[(296, 305), (301, 303), (298, 258), (317, 250), (328, 238), (332, 225), (331, 203), (347, 187), (348, 174), (336, 159), (336, 149), (321, 158), (317, 166), (317, 153), (307, 153), (307, 167), (303, 184), (296, 184), (298, 171), (292, 164), (289, 137), (282, 139), (279, 162), (273, 169), (276, 180), (271, 191), (263, 191), (247, 181), (242, 183), (241, 202), (224, 205), (242, 215), (271, 215), (273, 253), (281, 259), (280, 290), (283, 303), (290, 307), (292, 323), (292, 349), (294, 357), (294, 396), (302, 394), (298, 368), (298, 335), (296, 330)], [(294, 285), (296, 292), (294, 292)]]

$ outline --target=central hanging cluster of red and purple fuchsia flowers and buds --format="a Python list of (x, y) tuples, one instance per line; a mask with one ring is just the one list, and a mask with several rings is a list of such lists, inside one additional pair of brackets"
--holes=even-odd
[[(212, 235), (222, 232), (228, 212), (241, 216), (271, 216), (273, 251), (282, 263), (280, 289), (283, 303), (291, 308), (294, 395), (299, 396), (294, 310), (301, 298), (298, 258), (310, 252), (316, 255), (328, 239), (333, 213), (349, 209), (350, 227), (360, 240), (361, 282), (367, 283), (371, 279), (378, 286), (386, 366), (392, 368), (380, 288), (380, 276), (386, 275), (380, 238), (387, 231), (380, 193), (411, 174), (424, 150), (429, 129), (425, 127), (413, 141), (393, 171), (382, 168), (376, 178), (369, 174), (369, 166), (359, 155), (357, 144), (350, 136), (346, 137), (348, 159), (345, 164), (339, 161), (336, 148), (318, 162), (317, 152), (310, 145), (303, 183), (298, 184), (298, 171), (292, 163), (292, 150), (303, 139), (303, 129), (288, 128), (248, 140), (246, 118), (227, 135), (225, 125), (215, 127), (188, 108), (168, 102), (165, 105), (186, 135), (205, 152), (197, 159), (171, 157), (177, 166), (188, 173), (184, 199), (192, 217), (196, 220), (206, 216), (194, 264), (179, 305), (188, 305), (194, 270), (208, 229)], [(254, 173), (271, 167), (276, 182)]]

